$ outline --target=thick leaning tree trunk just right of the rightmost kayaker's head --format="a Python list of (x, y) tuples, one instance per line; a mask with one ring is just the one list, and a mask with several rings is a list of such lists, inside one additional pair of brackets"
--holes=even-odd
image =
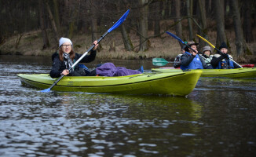
[(242, 29), (242, 23), (240, 19), (240, 9), (238, 0), (233, 0), (231, 2), (231, 9), (233, 14), (233, 23), (235, 27), (235, 33), (236, 33), (236, 54), (237, 56), (240, 56), (245, 52), (245, 43), (243, 42), (243, 29)]

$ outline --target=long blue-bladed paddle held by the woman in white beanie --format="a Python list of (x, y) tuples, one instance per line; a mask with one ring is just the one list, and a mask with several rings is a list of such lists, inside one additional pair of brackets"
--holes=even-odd
[[(110, 33), (111, 31), (113, 31), (115, 28), (119, 27), (119, 25), (122, 24), (124, 20), (126, 20), (126, 16), (128, 16), (129, 12), (130, 12), (130, 9), (128, 9), (128, 10), (126, 11), (126, 13), (124, 13), (123, 16), (122, 16), (111, 28), (109, 28), (108, 31), (106, 31), (106, 32), (104, 33), (104, 35), (101, 36), (101, 38), (99, 38), (99, 39), (97, 40), (97, 43), (101, 42), (101, 40), (102, 40), (106, 35), (108, 35), (108, 33)], [(95, 45), (93, 44), (93, 46), (91, 46), (90, 49), (88, 49), (88, 50), (86, 51), (86, 53), (84, 53), (84, 54), (82, 55), (82, 57), (80, 57), (79, 60), (77, 60), (77, 61), (75, 62), (75, 64), (73, 64), (70, 68), (68, 68), (68, 71), (70, 71), (71, 68), (74, 68), (75, 65), (78, 64), (79, 61), (82, 60), (82, 58), (85, 57), (86, 54), (87, 54), (88, 52), (90, 52), (91, 49), (94, 48), (94, 46), (95, 46)], [(52, 89), (53, 86), (57, 85), (57, 82), (59, 82), (60, 79), (62, 79), (63, 77), (64, 77), (64, 75), (61, 75), (60, 78), (57, 79), (57, 81), (54, 82), (52, 86), (50, 86), (48, 89), (43, 89), (43, 90), (41, 90), (41, 92), (49, 92), (50, 89)]]

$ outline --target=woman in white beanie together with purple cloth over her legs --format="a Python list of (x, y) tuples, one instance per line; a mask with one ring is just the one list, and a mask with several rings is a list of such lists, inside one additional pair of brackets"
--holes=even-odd
[[(90, 55), (86, 55), (80, 61), (81, 63), (89, 63), (93, 61), (96, 57), (97, 41), (94, 41), (94, 48), (90, 51)], [(75, 68), (71, 68), (68, 71), (68, 68), (75, 63), (75, 60), (79, 60), (82, 54), (75, 53), (73, 51), (73, 44), (69, 38), (60, 38), (59, 41), (59, 50), (56, 53), (53, 53), (52, 60), (53, 66), (52, 70), (49, 72), (49, 75), (52, 78), (58, 78), (60, 75), (68, 76), (124, 76), (124, 75), (134, 75), (143, 73), (144, 69), (141, 66), (139, 70), (131, 70), (123, 67), (115, 67), (112, 63), (105, 63), (98, 65), (93, 71), (82, 68), (79, 64), (75, 65)], [(83, 65), (83, 64), (80, 64)]]

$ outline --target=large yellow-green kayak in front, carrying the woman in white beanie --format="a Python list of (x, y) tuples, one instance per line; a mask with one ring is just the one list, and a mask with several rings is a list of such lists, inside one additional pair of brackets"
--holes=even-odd
[[(64, 76), (53, 90), (87, 93), (167, 94), (185, 96), (191, 93), (202, 71), (144, 73), (118, 77)], [(49, 74), (19, 74), (20, 81), (29, 86), (47, 89), (57, 79)]]

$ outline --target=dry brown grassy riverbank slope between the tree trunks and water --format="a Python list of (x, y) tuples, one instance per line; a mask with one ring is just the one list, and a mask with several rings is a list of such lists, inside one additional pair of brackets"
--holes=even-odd
[[(153, 32), (149, 31), (149, 36), (152, 36)], [(49, 36), (51, 34), (49, 33)], [(208, 36), (211, 38), (209, 41), (215, 43), (216, 33), (214, 31), (208, 31)], [(230, 38), (231, 52), (236, 52), (235, 38), (232, 31), (227, 31), (227, 36)], [(16, 42), (20, 38), (20, 42), (17, 45)], [(112, 34), (106, 36), (101, 41), (102, 49), (98, 51), (97, 58), (99, 59), (123, 59), (123, 60), (151, 60), (155, 57), (162, 57), (166, 60), (174, 60), (177, 54), (180, 53), (180, 46), (177, 40), (170, 37), (170, 35), (163, 34), (159, 38), (150, 38), (150, 47), (146, 52), (139, 52), (139, 37), (135, 32), (130, 32), (130, 38), (133, 42), (134, 50), (126, 51), (123, 46), (122, 35), (120, 31), (114, 31)], [(75, 35), (72, 39), (74, 49), (76, 53), (84, 53), (91, 46), (90, 35)], [(51, 56), (56, 50), (56, 44), (53, 44), (53, 38), (49, 38), (51, 46), (46, 49), (42, 49), (42, 34), (41, 31), (31, 31), (20, 35), (15, 35), (6, 39), (5, 43), (0, 46), (0, 55), (24, 55), (24, 56)], [(110, 46), (115, 46), (114, 50), (109, 50)], [(251, 51), (255, 51), (256, 44), (248, 43), (248, 48)], [(236, 57), (234, 53), (232, 56), (239, 63), (256, 63), (256, 52), (244, 54), (243, 56)]]

